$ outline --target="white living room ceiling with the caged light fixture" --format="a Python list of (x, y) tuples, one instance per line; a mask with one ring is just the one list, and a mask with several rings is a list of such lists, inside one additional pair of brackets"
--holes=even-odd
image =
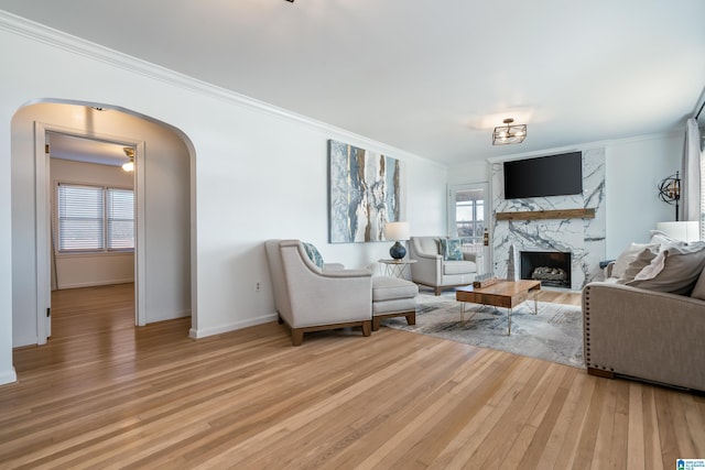
[[(682, 129), (705, 2), (0, 0), (0, 9), (454, 165)], [(505, 118), (528, 125), (492, 146)]]

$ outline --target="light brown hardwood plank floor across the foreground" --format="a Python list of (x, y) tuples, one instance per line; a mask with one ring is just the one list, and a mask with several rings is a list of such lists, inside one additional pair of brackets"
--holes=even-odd
[[(14, 351), (1, 468), (674, 468), (705, 398), (382, 327), (133, 327), (131, 285), (56, 293)], [(556, 294), (556, 298), (560, 296)], [(547, 297), (543, 296), (542, 300)], [(562, 302), (579, 303), (567, 295)]]

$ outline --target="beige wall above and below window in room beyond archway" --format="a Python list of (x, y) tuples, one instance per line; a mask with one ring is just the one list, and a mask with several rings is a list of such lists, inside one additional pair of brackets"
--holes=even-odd
[[(134, 183), (133, 175), (133, 173), (123, 172), (119, 166), (51, 159), (52, 207), (56, 207), (55, 189), (59, 183), (131, 189)], [(56, 251), (55, 247), (53, 248)], [(56, 253), (52, 261), (54, 260), (52, 288), (86, 287), (134, 281), (134, 254), (132, 252)]]

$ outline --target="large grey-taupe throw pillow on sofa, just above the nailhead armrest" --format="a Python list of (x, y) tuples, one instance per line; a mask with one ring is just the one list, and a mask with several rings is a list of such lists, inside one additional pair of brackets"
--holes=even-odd
[(705, 267), (705, 242), (674, 242), (661, 247), (647, 267), (626, 283), (652, 291), (691, 295)]

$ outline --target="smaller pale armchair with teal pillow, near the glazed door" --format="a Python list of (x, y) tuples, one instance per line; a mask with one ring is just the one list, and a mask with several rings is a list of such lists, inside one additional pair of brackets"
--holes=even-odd
[(457, 247), (455, 255), (451, 254), (443, 250), (442, 240), (447, 242), (448, 239), (411, 237), (409, 242), (409, 256), (416, 260), (411, 265), (411, 280), (433, 287), (435, 295), (441, 295), (443, 288), (470, 284), (478, 273), (477, 253), (458, 251)]

